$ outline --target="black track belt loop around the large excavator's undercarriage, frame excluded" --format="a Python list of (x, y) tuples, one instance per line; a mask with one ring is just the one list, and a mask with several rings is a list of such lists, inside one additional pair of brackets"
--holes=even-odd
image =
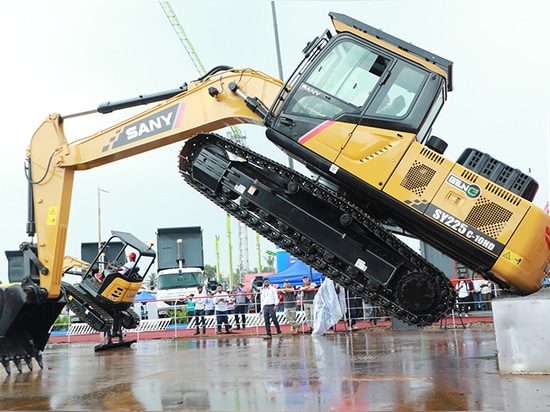
[[(251, 218), (249, 210), (242, 208), (236, 202), (228, 201), (223, 195), (217, 195), (209, 188), (195, 181), (190, 175), (192, 161), (195, 155), (206, 145), (216, 145), (228, 153), (232, 153), (241, 159), (246, 159), (246, 161), (251, 164), (269, 170), (274, 175), (297, 183), (300, 190), (307, 190), (317, 198), (325, 202), (330, 202), (332, 205), (337, 205), (342, 213), (350, 214), (355, 221), (373, 233), (383, 243), (390, 245), (392, 249), (401, 256), (403, 262), (408, 262), (408, 264), (414, 266), (418, 272), (430, 277), (432, 281), (437, 284), (437, 288), (440, 291), (439, 302), (432, 305), (431, 312), (422, 313), (420, 315), (412, 313), (397, 302), (396, 297), (393, 296), (394, 292), (392, 290), (384, 289), (378, 284), (375, 284), (362, 272), (358, 273), (360, 271), (354, 266), (340, 261), (338, 256), (324, 256), (322, 249), (316, 247), (315, 240), (308, 238), (307, 234), (294, 233), (294, 236), (283, 234), (276, 225), (266, 224), (262, 222), (262, 219), (259, 217)], [(359, 207), (327, 187), (314, 182), (286, 166), (273, 162), (271, 159), (258, 153), (252, 152), (246, 147), (235, 144), (213, 133), (199, 134), (189, 140), (182, 149), (179, 164), (180, 173), (187, 183), (224, 209), (227, 213), (242, 221), (269, 241), (287, 250), (296, 258), (317, 269), (325, 276), (344, 285), (358, 296), (385, 308), (396, 318), (411, 325), (424, 326), (438, 321), (452, 310), (455, 304), (455, 291), (451, 282), (443, 272), (409, 248), (409, 246), (386, 230), (378, 221), (371, 218)], [(268, 210), (266, 212), (269, 213)], [(403, 279), (398, 280), (397, 283), (406, 281), (406, 277), (405, 275)], [(392, 283), (395, 284), (395, 282)]]

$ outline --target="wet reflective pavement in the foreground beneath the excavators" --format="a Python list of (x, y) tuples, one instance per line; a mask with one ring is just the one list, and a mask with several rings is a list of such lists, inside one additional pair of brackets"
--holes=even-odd
[(549, 375), (500, 375), (494, 330), (50, 344), (0, 380), (1, 410), (536, 411)]

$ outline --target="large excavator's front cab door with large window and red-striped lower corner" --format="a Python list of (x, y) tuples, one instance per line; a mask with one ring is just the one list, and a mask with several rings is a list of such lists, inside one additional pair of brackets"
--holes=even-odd
[(349, 35), (340, 35), (323, 53), (293, 86), (275, 129), (334, 163), (392, 60)]

